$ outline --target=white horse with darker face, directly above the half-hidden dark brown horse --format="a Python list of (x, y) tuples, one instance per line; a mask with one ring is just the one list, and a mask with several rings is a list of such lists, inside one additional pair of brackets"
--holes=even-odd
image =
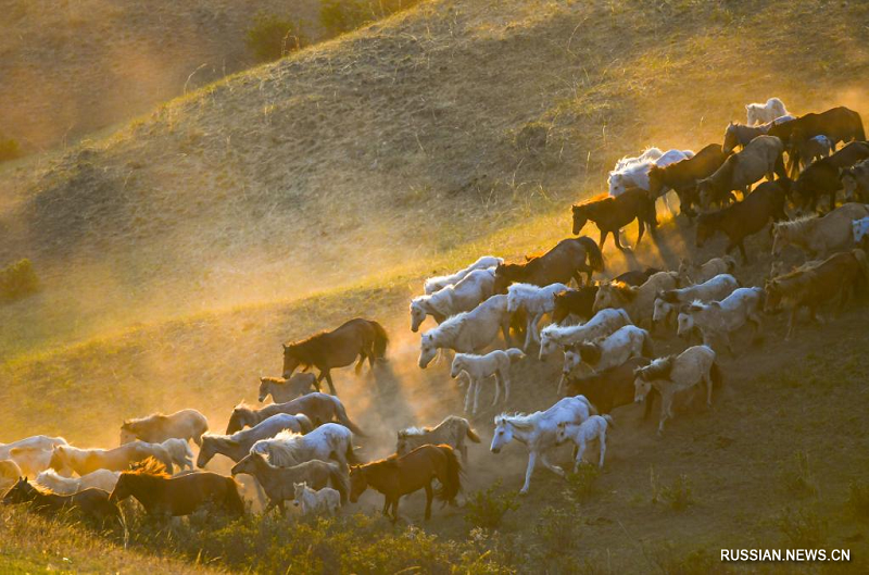
[(584, 361), (594, 372), (617, 367), (631, 358), (652, 355), (652, 336), (635, 325), (619, 327), (608, 336), (592, 341), (582, 341), (568, 347), (564, 352), (566, 378)]

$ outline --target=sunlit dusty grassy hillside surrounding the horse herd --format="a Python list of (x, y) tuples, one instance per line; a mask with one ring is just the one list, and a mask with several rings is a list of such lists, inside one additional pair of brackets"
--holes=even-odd
[[(547, 248), (616, 158), (720, 141), (745, 102), (776, 95), (797, 113), (846, 104), (866, 115), (869, 29), (852, 24), (867, 15), (861, 3), (424, 2), (105, 139), (0, 168), (0, 255), (32, 258), (43, 282), (0, 308), (0, 441), (52, 433), (113, 445), (121, 418), (184, 407), (221, 429), (237, 401), (255, 399), (259, 375), (278, 373), (281, 341), (364, 315), (390, 330), (390, 362), (337, 372), (336, 384), (369, 432), (364, 455), (382, 455), (398, 427), (461, 412), (448, 367), (415, 365), (406, 302), (421, 278)], [(607, 274), (721, 249), (696, 253), (692, 240), (669, 223), (633, 254), (607, 252)], [(765, 235), (751, 245), (769, 249)], [(756, 285), (768, 266), (758, 255), (736, 275)], [(784, 345), (770, 317), (761, 347), (722, 359), (713, 412), (680, 412), (658, 440), (625, 408), (594, 496), (568, 504), (565, 483), (539, 470), (504, 530), (545, 549), (536, 523), (566, 509), (577, 530), (563, 549), (555, 541), (551, 572), (566, 568), (559, 554), (589, 572), (673, 572), (696, 549), (798, 546), (785, 535), (799, 523), (790, 508), (819, 520), (823, 545), (865, 557), (848, 484), (869, 480), (854, 411), (867, 374), (852, 359), (866, 318), (860, 302)], [(550, 405), (556, 363), (520, 366), (508, 409)], [(468, 489), (501, 479), (499, 492), (514, 491), (525, 452), (488, 452), (491, 416), (474, 422), (483, 445)], [(685, 510), (667, 502), (680, 475)], [(361, 509), (378, 504), (366, 497)], [(405, 512), (418, 517), (418, 504)], [(427, 528), (464, 539), (464, 513), (436, 511)]]

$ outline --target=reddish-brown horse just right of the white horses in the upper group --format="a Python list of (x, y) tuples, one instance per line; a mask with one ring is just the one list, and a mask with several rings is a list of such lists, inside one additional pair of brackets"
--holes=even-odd
[(648, 193), (652, 198), (672, 189), (679, 196), (679, 211), (694, 215), (692, 204), (697, 202), (697, 182), (715, 174), (730, 155), (718, 143), (710, 143), (693, 157), (665, 167), (653, 165), (648, 170)]

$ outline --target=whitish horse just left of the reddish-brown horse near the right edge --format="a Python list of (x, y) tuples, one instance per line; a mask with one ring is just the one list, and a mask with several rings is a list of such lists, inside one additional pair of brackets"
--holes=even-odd
[(730, 334), (751, 322), (754, 335), (764, 329), (760, 311), (764, 308), (764, 288), (739, 288), (721, 301), (703, 303), (694, 301), (685, 308), (678, 318), (680, 337), (688, 337), (694, 326), (703, 335), (703, 343), (711, 347), (716, 338), (725, 340), (727, 349), (733, 354)]

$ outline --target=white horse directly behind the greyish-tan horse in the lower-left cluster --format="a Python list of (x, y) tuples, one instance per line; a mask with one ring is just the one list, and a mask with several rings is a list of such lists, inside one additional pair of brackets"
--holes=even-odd
[(268, 457), (278, 467), (292, 467), (311, 460), (329, 461), (333, 455), (341, 466), (356, 463), (353, 453), (353, 433), (338, 423), (326, 423), (307, 435), (280, 432), (273, 439), (260, 439), (251, 453)]

